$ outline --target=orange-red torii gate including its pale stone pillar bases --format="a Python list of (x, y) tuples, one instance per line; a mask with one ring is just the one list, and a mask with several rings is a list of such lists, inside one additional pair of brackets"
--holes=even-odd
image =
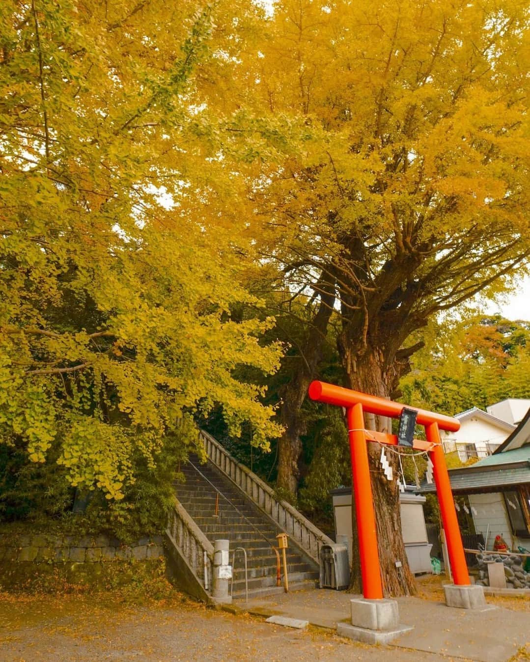
[[(364, 412), (399, 418), (403, 404), (321, 381), (311, 383), (309, 397), (315, 401), (346, 408), (363, 598), (352, 600), (352, 626), (341, 625), (342, 634), (366, 643), (386, 643), (401, 634), (403, 628), (409, 628), (398, 624), (398, 603), (383, 598)], [(456, 432), (460, 428), (460, 422), (443, 414), (414, 409), (417, 424), (425, 426), (427, 441), (413, 440), (413, 448), (428, 451), (433, 463), (433, 475), (454, 577), (454, 585), (444, 587), (446, 604), (461, 608), (484, 608), (486, 606), (484, 589), (470, 584), (439, 432), (440, 428)], [(397, 446), (399, 442), (393, 434), (370, 431), (370, 436), (372, 441), (391, 446)], [(385, 624), (386, 627), (381, 628), (381, 624)], [(374, 632), (378, 634), (374, 635)]]

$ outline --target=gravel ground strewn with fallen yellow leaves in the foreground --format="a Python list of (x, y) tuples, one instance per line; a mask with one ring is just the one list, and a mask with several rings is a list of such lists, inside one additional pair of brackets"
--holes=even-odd
[[(190, 600), (127, 606), (93, 598), (0, 595), (0, 660), (267, 660), (435, 662), (448, 657), (369, 647), (325, 630), (282, 628)], [(460, 658), (461, 660), (462, 658)]]

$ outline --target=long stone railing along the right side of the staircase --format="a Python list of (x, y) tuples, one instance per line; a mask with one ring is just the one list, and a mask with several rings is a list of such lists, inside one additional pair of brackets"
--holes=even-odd
[(279, 499), (274, 491), (250, 469), (240, 464), (217, 440), (204, 430), (199, 432), (207, 456), (221, 469), (252, 501), (259, 506), (278, 526), (315, 561), (320, 563), (320, 548), (331, 545), (328, 538), (314, 524), (311, 524), (288, 502)]

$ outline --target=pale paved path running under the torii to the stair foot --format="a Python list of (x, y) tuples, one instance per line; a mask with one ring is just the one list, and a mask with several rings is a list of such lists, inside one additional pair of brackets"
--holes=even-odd
[[(352, 597), (343, 591), (298, 591), (250, 600), (247, 608), (254, 614), (280, 614), (335, 628), (337, 622), (348, 619)], [(414, 629), (394, 640), (396, 653), (407, 648), (480, 662), (506, 662), (530, 641), (529, 612), (456, 609), (420, 598), (398, 598), (398, 603), (401, 623)], [(418, 654), (413, 659), (419, 659)]]

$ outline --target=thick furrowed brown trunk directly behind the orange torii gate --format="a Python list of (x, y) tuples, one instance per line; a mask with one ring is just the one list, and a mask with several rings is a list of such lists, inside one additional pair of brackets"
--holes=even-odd
[[(344, 368), (348, 375), (349, 386), (356, 391), (370, 393), (380, 397), (390, 397), (399, 380), (399, 364), (385, 361), (384, 355), (378, 348), (354, 348), (341, 342)], [(370, 420), (371, 419), (371, 420)], [(365, 422), (368, 426), (386, 431), (387, 419), (384, 417), (368, 417)], [(399, 488), (397, 477), (399, 475), (398, 457), (394, 453), (387, 453), (388, 461), (394, 471), (394, 480), (388, 481), (380, 464), (381, 446), (368, 442), (368, 462), (370, 464), (370, 478), (372, 494), (374, 497), (374, 510), (376, 514), (376, 529), (378, 551), (381, 567), (383, 591), (386, 597), (399, 595), (414, 595), (416, 586), (414, 577), (409, 569), (403, 536), (401, 534), (401, 512), (399, 508)], [(354, 508), (354, 495), (352, 495), (352, 528), (353, 528), (353, 559), (351, 589), (362, 592), (360, 574), (360, 556), (358, 553), (358, 536)], [(401, 565), (396, 567), (396, 563)]]

